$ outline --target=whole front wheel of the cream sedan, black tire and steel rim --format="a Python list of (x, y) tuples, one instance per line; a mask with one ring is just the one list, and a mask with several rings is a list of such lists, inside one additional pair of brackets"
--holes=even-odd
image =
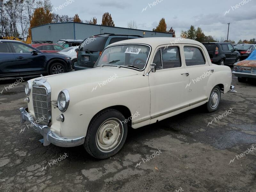
[[(117, 123), (118, 128), (117, 126), (114, 126), (114, 124), (109, 123), (109, 121), (116, 121), (115, 123)], [(89, 124), (85, 137), (84, 148), (91, 156), (98, 159), (107, 159), (114, 156), (124, 145), (127, 136), (127, 129), (127, 123), (125, 123), (125, 117), (122, 113), (115, 109), (105, 109), (94, 116)], [(111, 131), (112, 135), (109, 135), (111, 134)], [(120, 135), (117, 133), (118, 131), (120, 131)], [(115, 137), (111, 138), (112, 136)], [(113, 141), (113, 139), (115, 140)], [(110, 144), (113, 145), (113, 147), (110, 146), (111, 148), (108, 148), (109, 146), (107, 146), (103, 140), (106, 142), (112, 140)], [(104, 149), (104, 147), (108, 149)]]

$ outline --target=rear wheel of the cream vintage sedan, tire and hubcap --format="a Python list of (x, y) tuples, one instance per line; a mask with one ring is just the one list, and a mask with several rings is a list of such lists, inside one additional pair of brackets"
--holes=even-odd
[[(217, 94), (217, 95), (215, 95)], [(212, 92), (209, 97), (209, 101), (206, 103), (206, 109), (208, 112), (216, 111), (220, 105), (221, 92), (219, 85), (213, 87)], [(216, 100), (217, 99), (217, 100)]]

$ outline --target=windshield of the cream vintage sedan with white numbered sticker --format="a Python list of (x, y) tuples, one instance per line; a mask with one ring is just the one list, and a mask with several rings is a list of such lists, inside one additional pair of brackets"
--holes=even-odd
[(94, 67), (120, 66), (143, 70), (150, 48), (146, 45), (117, 45), (105, 49)]

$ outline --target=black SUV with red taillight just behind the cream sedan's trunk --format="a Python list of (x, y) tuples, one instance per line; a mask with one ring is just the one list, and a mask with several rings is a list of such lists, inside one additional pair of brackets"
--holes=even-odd
[(231, 43), (203, 43), (212, 63), (217, 65), (234, 64), (241, 60), (241, 55)]

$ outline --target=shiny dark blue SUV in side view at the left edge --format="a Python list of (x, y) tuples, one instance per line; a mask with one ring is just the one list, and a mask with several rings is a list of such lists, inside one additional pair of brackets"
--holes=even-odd
[(71, 71), (71, 58), (44, 53), (14, 40), (0, 40), (0, 77), (53, 75)]

